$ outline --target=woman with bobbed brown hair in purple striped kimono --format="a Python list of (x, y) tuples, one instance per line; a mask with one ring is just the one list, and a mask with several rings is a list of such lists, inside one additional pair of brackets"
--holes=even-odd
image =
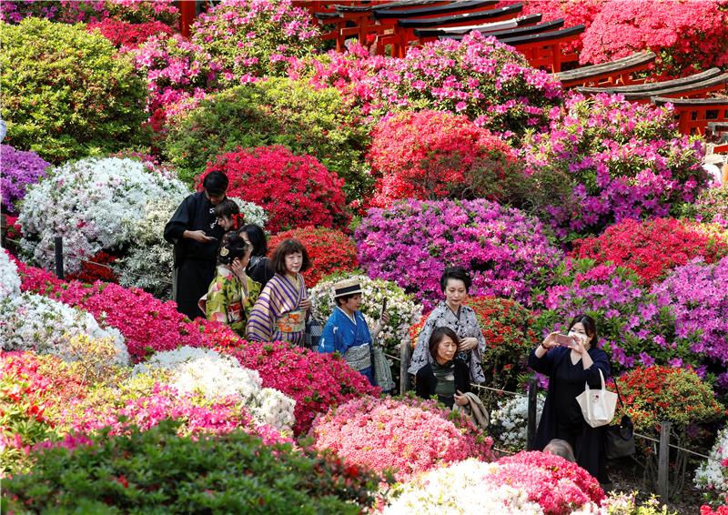
[(306, 319), (311, 301), (299, 272), (309, 267), (308, 252), (298, 239), (284, 239), (278, 244), (271, 258), (276, 275), (263, 288), (250, 312), (249, 340), (306, 344)]

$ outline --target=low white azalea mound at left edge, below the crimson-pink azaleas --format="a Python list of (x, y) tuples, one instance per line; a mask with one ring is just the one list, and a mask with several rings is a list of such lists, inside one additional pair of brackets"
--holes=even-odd
[(0, 345), (3, 350), (33, 350), (64, 361), (86, 361), (94, 348), (76, 345), (77, 338), (100, 340), (112, 349), (106, 365), (126, 366), (129, 353), (116, 328), (99, 326), (90, 313), (33, 293), (0, 300)]

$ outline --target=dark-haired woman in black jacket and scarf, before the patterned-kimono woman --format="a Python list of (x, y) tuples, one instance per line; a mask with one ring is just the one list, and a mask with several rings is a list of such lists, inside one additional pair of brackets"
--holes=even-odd
[(438, 400), (452, 409), (453, 404), (468, 404), (470, 369), (460, 358), (458, 335), (451, 328), (435, 328), (430, 336), (432, 362), (417, 371), (415, 392), (423, 399), (437, 395)]

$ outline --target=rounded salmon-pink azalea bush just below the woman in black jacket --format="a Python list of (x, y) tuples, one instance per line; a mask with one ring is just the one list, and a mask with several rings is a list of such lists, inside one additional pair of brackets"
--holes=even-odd
[(467, 417), (449, 419), (434, 401), (354, 399), (319, 415), (309, 435), (314, 449), (331, 449), (347, 462), (399, 481), (469, 457), (490, 459), (492, 440)]

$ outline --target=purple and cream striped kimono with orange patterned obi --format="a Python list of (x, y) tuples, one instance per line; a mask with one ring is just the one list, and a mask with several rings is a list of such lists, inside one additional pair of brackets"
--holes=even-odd
[(298, 274), (298, 287), (286, 277), (276, 274), (268, 281), (248, 317), (247, 335), (251, 341), (288, 341), (306, 344), (308, 312), (298, 309), (308, 298), (306, 283)]

